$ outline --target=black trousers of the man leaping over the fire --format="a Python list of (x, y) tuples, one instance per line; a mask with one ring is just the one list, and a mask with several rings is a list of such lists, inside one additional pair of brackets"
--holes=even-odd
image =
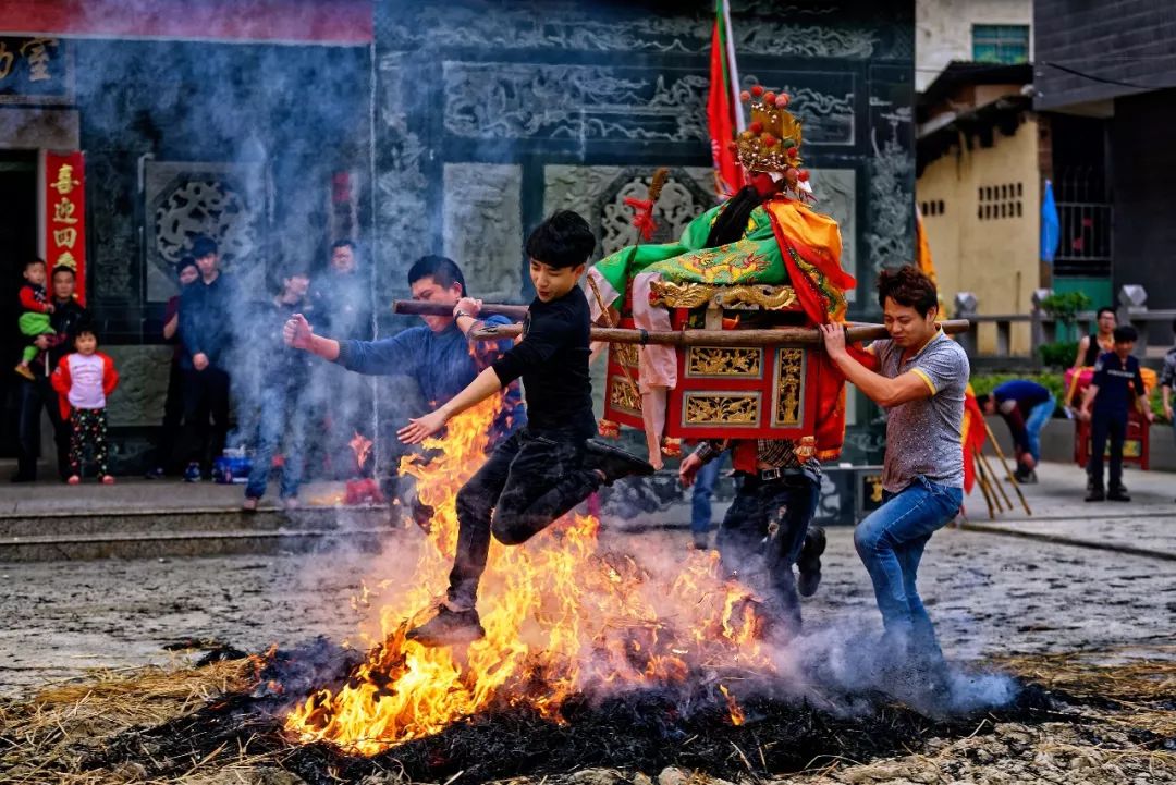
[(449, 602), (473, 608), (493, 535), (519, 545), (600, 488), (583, 467), (584, 440), (572, 432), (527, 429), (500, 444), (457, 491), (457, 549)]

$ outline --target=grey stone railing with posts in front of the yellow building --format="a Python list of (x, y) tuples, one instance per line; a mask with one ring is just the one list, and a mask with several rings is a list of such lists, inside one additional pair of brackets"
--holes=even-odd
[[(1050, 296), (1050, 289), (1038, 289), (1033, 295), (1033, 310), (1028, 314), (977, 314), (978, 301), (970, 291), (961, 291), (955, 298), (955, 318), (967, 318), (971, 322), (968, 333), (960, 334), (957, 340), (968, 350), (968, 356), (974, 362), (985, 365), (1003, 365), (1014, 368), (1038, 368), (1041, 357), (1037, 349), (1042, 344), (1054, 343), (1058, 340), (1075, 341), (1083, 335), (1095, 331), (1096, 311), (1080, 311), (1074, 327), (1065, 330), (1065, 326), (1045, 311), (1041, 303)], [(1148, 294), (1141, 286), (1128, 284), (1118, 291), (1118, 308), (1116, 317), (1120, 324), (1131, 324), (1140, 334), (1140, 340), (1135, 344), (1135, 354), (1140, 358), (1149, 357), (1148, 347), (1168, 347), (1170, 344), (1171, 324), (1176, 320), (1174, 309), (1149, 309), (1147, 307)], [(1016, 355), (1013, 353), (1014, 328), (1018, 324), (1029, 324), (1029, 354)], [(985, 327), (990, 326), (990, 328)], [(984, 351), (978, 340), (982, 329), (995, 329), (995, 343), (988, 345), (984, 342)], [(1149, 340), (1150, 338), (1150, 340)], [(1150, 353), (1155, 354), (1155, 353)]]

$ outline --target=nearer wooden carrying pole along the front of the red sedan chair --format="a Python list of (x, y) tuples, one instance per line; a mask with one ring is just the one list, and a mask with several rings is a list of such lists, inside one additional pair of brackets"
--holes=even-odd
[[(485, 313), (485, 309), (483, 309)], [(940, 322), (944, 333), (967, 333), (968, 320)], [(513, 338), (522, 334), (522, 326), (480, 327), (469, 331), (476, 341)], [(881, 324), (858, 324), (846, 328), (846, 341), (877, 341), (889, 334)], [(781, 327), (775, 330), (633, 330), (594, 327), (593, 341), (610, 343), (649, 343), (669, 347), (820, 347), (824, 343), (821, 330), (811, 327)]]

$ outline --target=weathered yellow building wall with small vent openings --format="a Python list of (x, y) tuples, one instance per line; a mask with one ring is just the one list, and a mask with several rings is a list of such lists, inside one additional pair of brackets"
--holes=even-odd
[[(973, 143), (956, 148), (923, 169), (915, 183), (918, 203), (942, 201), (943, 213), (924, 213), (923, 226), (931, 247), (943, 302), (958, 291), (971, 291), (981, 314), (1028, 313), (1038, 281), (1038, 210), (1041, 183), (1037, 175), (1037, 121), (1022, 122), (1013, 136), (994, 132), (991, 147)], [(981, 197), (980, 189), (1020, 186), (1020, 196)], [(1021, 215), (978, 217), (977, 210), (995, 204), (1020, 203)], [(1028, 323), (1015, 326), (1013, 353), (1030, 351)], [(995, 330), (982, 326), (980, 350), (995, 348)]]

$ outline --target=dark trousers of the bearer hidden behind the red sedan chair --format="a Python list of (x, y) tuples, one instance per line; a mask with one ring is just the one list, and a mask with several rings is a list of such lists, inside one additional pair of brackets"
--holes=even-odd
[(820, 498), (821, 484), (807, 475), (744, 477), (716, 537), (723, 568), (763, 596), (770, 618), (791, 632), (801, 626), (793, 565)]

